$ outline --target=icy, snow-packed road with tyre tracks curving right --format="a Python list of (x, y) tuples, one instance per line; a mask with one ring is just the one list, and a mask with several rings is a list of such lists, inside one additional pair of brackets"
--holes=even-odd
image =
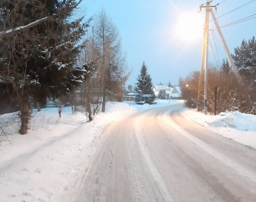
[(255, 202), (256, 151), (179, 115), (181, 104), (109, 125), (77, 202)]

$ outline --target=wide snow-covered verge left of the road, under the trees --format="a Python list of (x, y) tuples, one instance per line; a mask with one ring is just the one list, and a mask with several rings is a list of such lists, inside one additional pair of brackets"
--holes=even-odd
[(108, 102), (106, 113), (87, 122), (85, 114), (72, 114), (70, 107), (63, 109), (61, 119), (57, 108), (42, 109), (33, 113), (26, 135), (18, 134), (16, 113), (2, 115), (2, 122), (14, 124), (9, 126), (12, 145), (0, 150), (0, 201), (74, 201), (82, 176), (106, 139), (106, 125), (137, 111)]

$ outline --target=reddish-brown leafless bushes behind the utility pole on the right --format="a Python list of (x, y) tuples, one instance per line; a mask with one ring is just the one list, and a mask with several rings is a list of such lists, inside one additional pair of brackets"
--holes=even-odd
[[(197, 93), (199, 85), (199, 72), (194, 71), (185, 78), (180, 78), (179, 85), (182, 92), (182, 97), (185, 100), (187, 107), (196, 108), (199, 105), (199, 110), (203, 110), (204, 92), (200, 93), (200, 102), (197, 103)], [(229, 74), (219, 71), (216, 68), (208, 70), (208, 111), (214, 113), (214, 89), (218, 87), (217, 97), (217, 112), (226, 110), (239, 110), (242, 113), (256, 114), (256, 98), (255, 92), (250, 90), (249, 84), (245, 83), (251, 103), (248, 104), (239, 90), (238, 82), (231, 72)]]

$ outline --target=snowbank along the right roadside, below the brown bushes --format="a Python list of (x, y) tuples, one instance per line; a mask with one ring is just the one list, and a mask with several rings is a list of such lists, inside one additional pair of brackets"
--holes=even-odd
[(226, 111), (212, 116), (187, 108), (182, 111), (181, 115), (229, 139), (256, 149), (255, 115)]

